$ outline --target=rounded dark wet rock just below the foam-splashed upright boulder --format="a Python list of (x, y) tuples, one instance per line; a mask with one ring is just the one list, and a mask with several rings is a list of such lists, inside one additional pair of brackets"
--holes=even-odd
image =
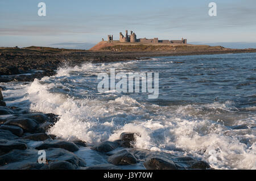
[(108, 158), (108, 162), (113, 165), (131, 165), (137, 163), (134, 155), (129, 153), (127, 150), (119, 151)]

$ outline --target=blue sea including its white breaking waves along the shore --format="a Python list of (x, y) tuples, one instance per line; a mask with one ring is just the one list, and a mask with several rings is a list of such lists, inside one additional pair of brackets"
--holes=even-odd
[[(111, 68), (159, 73), (158, 99), (98, 92), (98, 73)], [(97, 145), (137, 132), (138, 149), (192, 155), (215, 169), (256, 169), (256, 53), (86, 63), (56, 71), (32, 83), (2, 83), (7, 106), (59, 115), (49, 133), (67, 140)], [(89, 165), (106, 162), (88, 148), (77, 154)]]

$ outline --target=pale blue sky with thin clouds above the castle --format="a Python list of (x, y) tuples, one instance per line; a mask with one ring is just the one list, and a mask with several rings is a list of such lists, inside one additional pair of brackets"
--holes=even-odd
[[(38, 3), (46, 3), (46, 16)], [(209, 16), (210, 2), (217, 16)], [(119, 32), (137, 38), (256, 48), (255, 0), (1, 0), (0, 47), (88, 49)]]

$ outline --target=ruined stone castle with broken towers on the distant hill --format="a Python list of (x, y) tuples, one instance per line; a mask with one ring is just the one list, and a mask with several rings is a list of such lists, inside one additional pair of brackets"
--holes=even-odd
[[(108, 35), (108, 41), (114, 41), (113, 40), (113, 35), (110, 36)], [(128, 35), (128, 31), (125, 31), (125, 36), (123, 36), (122, 32), (119, 33), (119, 42), (130, 42), (130, 43), (135, 43), (135, 42), (141, 42), (141, 43), (150, 43), (150, 44), (187, 44), (187, 39), (181, 39), (181, 40), (159, 40), (158, 37), (155, 37), (154, 39), (146, 39), (144, 37), (143, 39), (137, 39), (136, 34), (131, 31), (130, 35)]]

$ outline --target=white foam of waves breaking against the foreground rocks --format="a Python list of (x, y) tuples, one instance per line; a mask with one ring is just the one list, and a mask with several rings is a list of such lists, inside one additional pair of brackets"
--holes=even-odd
[[(214, 118), (216, 115), (230, 116), (236, 113), (232, 102), (158, 106), (127, 95), (120, 95), (113, 100), (97, 97), (84, 99), (49, 91), (63, 86), (61, 77), (69, 77), (74, 72), (95, 74), (96, 71), (105, 71), (113, 66), (121, 66), (121, 63), (111, 66), (85, 64), (75, 68), (60, 68), (52, 77), (56, 79), (54, 83), (49, 81), (51, 78), (44, 77), (24, 86), (20, 91), (23, 94), (27, 92), (27, 95), (22, 100), (29, 100), (32, 111), (59, 115), (60, 120), (49, 133), (67, 140), (79, 138), (94, 145), (106, 140), (117, 140), (122, 132), (137, 132), (140, 134), (135, 143), (137, 148), (181, 155), (192, 154), (207, 159), (216, 169), (256, 169), (255, 142), (247, 145), (241, 142), (241, 138), (255, 138), (255, 132), (251, 129), (246, 132), (234, 131), (226, 127), (229, 122), (225, 116), (222, 121)], [(255, 121), (252, 117), (239, 119), (241, 123)], [(241, 123), (237, 120), (237, 124)], [(94, 161), (90, 160), (90, 163)]]

